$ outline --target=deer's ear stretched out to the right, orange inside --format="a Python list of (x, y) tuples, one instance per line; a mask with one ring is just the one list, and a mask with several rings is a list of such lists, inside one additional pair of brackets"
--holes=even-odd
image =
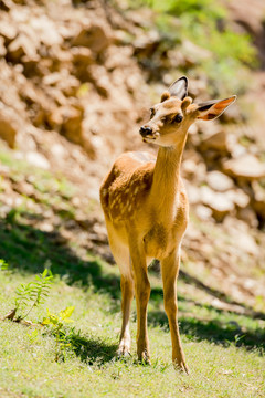
[(236, 95), (233, 95), (225, 100), (213, 100), (198, 104), (197, 118), (203, 121), (213, 121), (214, 118), (222, 115), (226, 107), (233, 104), (235, 100)]

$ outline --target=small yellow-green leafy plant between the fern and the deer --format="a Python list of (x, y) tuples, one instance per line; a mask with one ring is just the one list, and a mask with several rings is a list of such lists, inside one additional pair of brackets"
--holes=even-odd
[(70, 347), (71, 344), (71, 333), (67, 334), (65, 329), (65, 324), (74, 322), (71, 320), (71, 315), (73, 314), (74, 306), (68, 306), (65, 310), (61, 311), (59, 315), (52, 314), (47, 310), (47, 316), (43, 318), (43, 326), (52, 326), (53, 335), (55, 336), (56, 346), (55, 346), (55, 362), (60, 359), (65, 360), (66, 358), (66, 348)]

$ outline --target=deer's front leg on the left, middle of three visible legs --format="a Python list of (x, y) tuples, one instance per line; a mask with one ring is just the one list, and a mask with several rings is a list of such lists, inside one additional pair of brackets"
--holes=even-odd
[(144, 244), (130, 240), (130, 256), (135, 276), (135, 294), (137, 306), (137, 354), (139, 360), (150, 362), (147, 332), (147, 304), (150, 296), (150, 283), (147, 275)]

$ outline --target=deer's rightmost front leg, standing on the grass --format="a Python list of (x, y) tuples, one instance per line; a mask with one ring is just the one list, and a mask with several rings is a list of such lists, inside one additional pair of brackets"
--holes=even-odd
[(179, 325), (178, 325), (178, 302), (177, 302), (177, 279), (179, 274), (180, 256), (178, 252), (171, 253), (161, 261), (163, 281), (165, 310), (169, 320), (169, 327), (172, 341), (172, 360), (177, 368), (189, 373), (186, 365), (184, 352), (182, 349)]

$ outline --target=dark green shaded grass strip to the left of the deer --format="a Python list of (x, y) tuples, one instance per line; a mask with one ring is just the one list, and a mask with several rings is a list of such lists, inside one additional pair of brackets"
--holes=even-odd
[(43, 232), (31, 226), (0, 220), (0, 258), (10, 269), (20, 272), (40, 273), (49, 260), (53, 274), (70, 284), (108, 293), (114, 300), (120, 297), (119, 276), (103, 271), (100, 260), (84, 261), (59, 232)]

